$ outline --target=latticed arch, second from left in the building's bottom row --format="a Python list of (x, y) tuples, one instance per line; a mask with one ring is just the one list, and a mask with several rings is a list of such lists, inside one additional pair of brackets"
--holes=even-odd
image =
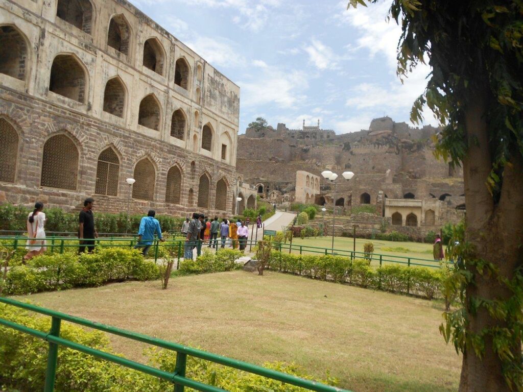
[(40, 185), (59, 189), (76, 189), (78, 149), (67, 135), (54, 135), (43, 145)]

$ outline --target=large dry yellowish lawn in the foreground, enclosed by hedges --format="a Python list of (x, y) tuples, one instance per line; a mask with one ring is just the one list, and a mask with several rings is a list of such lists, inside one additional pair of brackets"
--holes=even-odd
[[(256, 364), (295, 362), (356, 392), (455, 391), (460, 359), (438, 302), (266, 271), (27, 296), (51, 309)], [(20, 298), (18, 298), (20, 299)], [(141, 343), (110, 336), (144, 360)]]

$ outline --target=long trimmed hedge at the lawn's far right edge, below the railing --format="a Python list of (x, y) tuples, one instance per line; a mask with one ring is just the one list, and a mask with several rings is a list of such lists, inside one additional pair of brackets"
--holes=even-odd
[(376, 290), (401, 294), (415, 294), (432, 299), (440, 295), (444, 276), (442, 271), (426, 267), (405, 267), (386, 264), (379, 268), (369, 266), (363, 259), (333, 255), (295, 255), (272, 251), (269, 268), (312, 279), (350, 283)]

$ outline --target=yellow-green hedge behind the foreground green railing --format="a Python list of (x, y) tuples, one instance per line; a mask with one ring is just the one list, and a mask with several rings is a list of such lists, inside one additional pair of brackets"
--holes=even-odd
[[(38, 317), (24, 310), (0, 304), (2, 318), (17, 322), (29, 328), (48, 332), (50, 317)], [(87, 331), (79, 326), (62, 323), (60, 335), (76, 343), (114, 353), (105, 333)], [(2, 390), (43, 390), (47, 367), (48, 343), (18, 332), (0, 327), (0, 389)], [(151, 366), (173, 372), (176, 353), (167, 350), (146, 351)], [(280, 372), (312, 379), (293, 364), (265, 363), (264, 366)], [(189, 356), (186, 375), (196, 381), (210, 384), (231, 392), (274, 391), (305, 392), (305, 389), (248, 374), (232, 368), (213, 364)], [(336, 380), (328, 375), (320, 382), (335, 385)], [(173, 390), (172, 384), (144, 375), (117, 364), (96, 359), (70, 349), (58, 350), (56, 392), (164, 392)]]

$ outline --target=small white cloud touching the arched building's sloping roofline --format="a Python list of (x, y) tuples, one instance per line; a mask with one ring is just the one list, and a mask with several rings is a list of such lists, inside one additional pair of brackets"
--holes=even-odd
[(238, 54), (225, 38), (198, 36), (186, 44), (213, 66), (230, 68), (241, 67), (246, 63), (245, 58)]

